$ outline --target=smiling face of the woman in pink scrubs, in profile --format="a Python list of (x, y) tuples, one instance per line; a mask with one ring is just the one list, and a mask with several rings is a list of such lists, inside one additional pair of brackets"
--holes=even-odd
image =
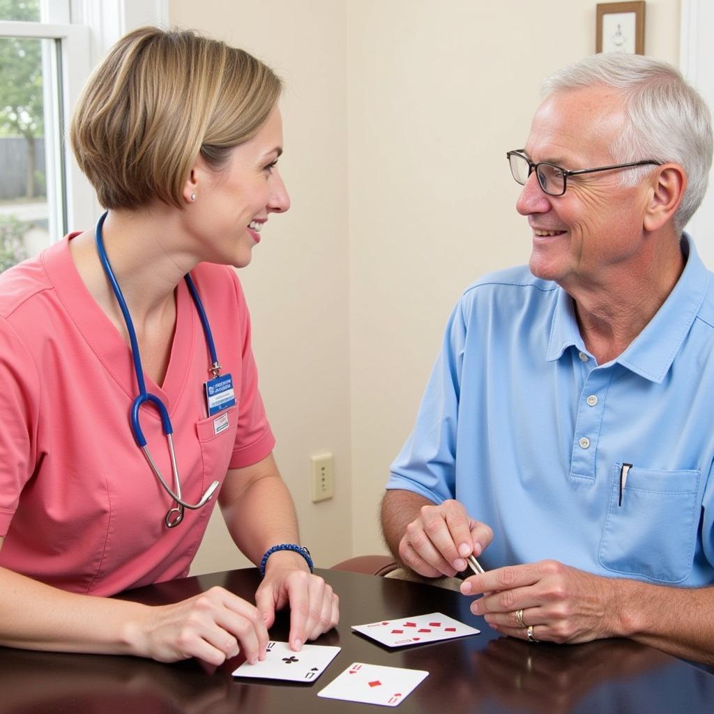
[(283, 124), (273, 109), (258, 134), (231, 150), (220, 171), (199, 159), (187, 183), (195, 193), (186, 213), (191, 235), (197, 238), (199, 260), (243, 268), (271, 213), (290, 208), (290, 198), (276, 162), (282, 153)]

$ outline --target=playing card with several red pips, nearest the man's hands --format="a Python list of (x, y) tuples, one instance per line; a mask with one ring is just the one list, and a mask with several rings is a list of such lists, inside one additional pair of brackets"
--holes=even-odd
[(416, 617), (399, 620), (381, 620), (368, 625), (352, 625), (352, 629), (388, 647), (423, 645), (426, 642), (451, 640), (466, 635), (478, 635), (481, 632), (442, 613), (416, 615)]

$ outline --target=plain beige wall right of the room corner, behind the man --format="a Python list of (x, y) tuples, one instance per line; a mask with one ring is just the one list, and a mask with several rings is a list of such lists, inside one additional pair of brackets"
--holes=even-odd
[[(446, 318), (478, 276), (528, 259), (506, 151), (540, 81), (595, 51), (594, 0), (348, 2), (353, 549), (376, 510)], [(645, 51), (678, 61), (679, 2), (648, 0)]]

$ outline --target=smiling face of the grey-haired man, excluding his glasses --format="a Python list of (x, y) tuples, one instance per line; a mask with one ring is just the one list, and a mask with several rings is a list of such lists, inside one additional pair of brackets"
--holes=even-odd
[[(623, 121), (621, 101), (609, 89), (550, 95), (535, 113), (526, 154), (570, 170), (618, 163), (609, 147)], [(516, 209), (533, 231), (533, 274), (566, 290), (619, 279), (642, 254), (647, 193), (644, 179), (620, 186), (616, 170), (569, 176), (563, 196), (548, 196), (531, 174)]]

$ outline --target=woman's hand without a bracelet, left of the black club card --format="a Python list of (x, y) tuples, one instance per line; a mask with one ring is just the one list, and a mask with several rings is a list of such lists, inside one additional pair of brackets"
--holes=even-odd
[(218, 587), (174, 605), (147, 607), (128, 628), (136, 654), (160, 662), (196, 657), (218, 666), (242, 652), (252, 664), (265, 658), (268, 646), (261, 610)]

